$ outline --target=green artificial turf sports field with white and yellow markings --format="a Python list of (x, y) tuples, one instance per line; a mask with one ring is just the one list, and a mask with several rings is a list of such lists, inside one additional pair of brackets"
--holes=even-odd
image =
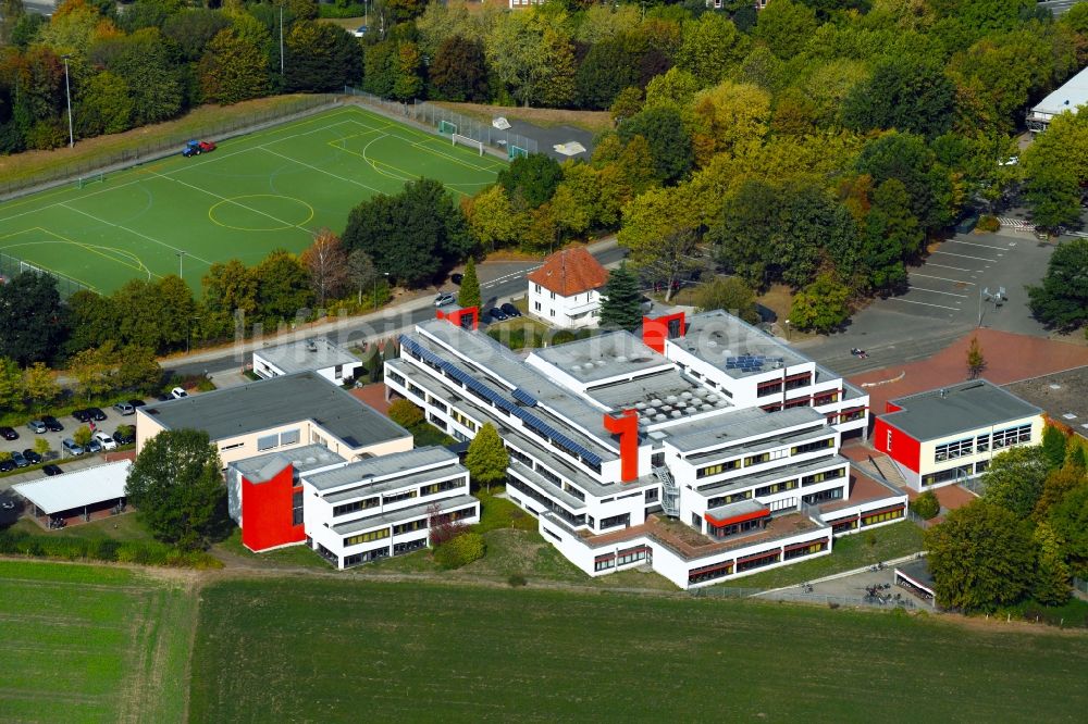
[[(174, 157), (0, 203), (0, 253), (109, 292), (177, 274), (199, 290), (219, 261), (256, 264), (344, 230), (363, 199), (434, 178), (456, 196), (494, 183), (505, 163), (449, 139), (346, 105)], [(184, 255), (180, 258), (180, 254)], [(9, 270), (10, 271), (10, 270)]]

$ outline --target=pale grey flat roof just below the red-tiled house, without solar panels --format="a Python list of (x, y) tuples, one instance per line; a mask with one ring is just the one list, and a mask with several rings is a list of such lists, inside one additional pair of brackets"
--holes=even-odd
[(630, 332), (609, 332), (554, 345), (533, 350), (530, 357), (540, 358), (583, 384), (673, 366)]

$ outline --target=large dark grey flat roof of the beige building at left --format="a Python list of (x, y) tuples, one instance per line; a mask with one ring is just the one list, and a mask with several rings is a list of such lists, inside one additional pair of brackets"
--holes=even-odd
[(410, 433), (317, 372), (299, 372), (239, 387), (137, 408), (166, 429), (202, 429), (212, 440), (312, 420), (356, 449)]

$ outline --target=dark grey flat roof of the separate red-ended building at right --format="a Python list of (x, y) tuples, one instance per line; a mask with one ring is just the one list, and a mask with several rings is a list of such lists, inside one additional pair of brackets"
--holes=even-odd
[(908, 395), (890, 401), (903, 408), (880, 419), (916, 440), (932, 440), (1000, 425), (1042, 412), (986, 379)]

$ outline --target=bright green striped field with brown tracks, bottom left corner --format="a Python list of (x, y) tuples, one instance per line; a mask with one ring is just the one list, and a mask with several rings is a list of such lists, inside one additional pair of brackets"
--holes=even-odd
[(0, 561), (0, 719), (185, 721), (196, 608), (127, 569)]

